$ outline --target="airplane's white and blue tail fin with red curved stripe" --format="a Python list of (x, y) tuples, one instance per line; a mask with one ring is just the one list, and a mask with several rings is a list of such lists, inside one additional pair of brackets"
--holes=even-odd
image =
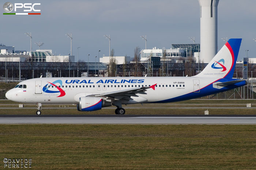
[(242, 39), (229, 39), (196, 77), (233, 78)]

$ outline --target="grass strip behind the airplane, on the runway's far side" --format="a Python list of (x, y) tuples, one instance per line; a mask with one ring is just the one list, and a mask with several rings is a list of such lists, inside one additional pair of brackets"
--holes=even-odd
[[(254, 108), (246, 108), (246, 103), (252, 103)], [(35, 104), (24, 104), (24, 108), (18, 108), (19, 103), (10, 100), (0, 100), (0, 114), (35, 114), (37, 106)], [(125, 114), (177, 114), (177, 115), (203, 115), (205, 110), (209, 114), (227, 114), (227, 115), (252, 115), (256, 114), (256, 100), (186, 100), (175, 103), (146, 103), (123, 105)], [(11, 109), (4, 109), (10, 107)], [(52, 107), (52, 108), (49, 108)], [(42, 105), (42, 114), (114, 114), (116, 107), (102, 108), (93, 112), (80, 112), (76, 110), (76, 106), (65, 105)], [(187, 108), (189, 107), (189, 108)], [(211, 108), (215, 107), (215, 108)], [(225, 108), (224, 108), (225, 107)], [(239, 107), (239, 108), (238, 108)], [(54, 109), (56, 108), (56, 109)], [(61, 108), (61, 109), (59, 109)]]

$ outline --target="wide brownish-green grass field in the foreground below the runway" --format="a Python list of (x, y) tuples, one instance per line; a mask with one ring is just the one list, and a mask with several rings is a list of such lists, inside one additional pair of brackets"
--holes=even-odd
[(33, 169), (256, 169), (255, 125), (23, 124), (0, 129), (0, 158), (31, 158)]

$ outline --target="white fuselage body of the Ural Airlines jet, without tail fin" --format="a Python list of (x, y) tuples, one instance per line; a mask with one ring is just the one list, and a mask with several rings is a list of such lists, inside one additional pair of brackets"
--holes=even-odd
[[(131, 96), (135, 102), (122, 104), (161, 102), (189, 93), (200, 94), (200, 88), (218, 79), (199, 77), (36, 78), (19, 83), (26, 85), (26, 88), (13, 88), (7, 92), (6, 97), (21, 103), (77, 104), (81, 96), (157, 84), (155, 90), (148, 88), (145, 91), (146, 94), (137, 94), (140, 98)], [(55, 85), (64, 92), (61, 93), (56, 86), (50, 84), (56, 81)]]

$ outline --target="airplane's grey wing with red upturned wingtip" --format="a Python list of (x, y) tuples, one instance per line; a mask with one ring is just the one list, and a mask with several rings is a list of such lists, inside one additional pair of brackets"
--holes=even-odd
[(153, 88), (155, 90), (155, 85), (154, 84), (150, 87), (137, 87), (137, 88), (130, 88), (126, 90), (119, 90), (119, 91), (112, 91), (112, 92), (107, 92), (107, 93), (102, 93), (102, 94), (95, 94), (95, 95), (89, 95), (88, 97), (101, 97), (101, 98), (114, 98), (114, 99), (126, 99), (126, 100), (131, 100), (131, 96), (138, 97), (136, 94), (147, 94), (145, 91), (147, 91), (148, 88)]

